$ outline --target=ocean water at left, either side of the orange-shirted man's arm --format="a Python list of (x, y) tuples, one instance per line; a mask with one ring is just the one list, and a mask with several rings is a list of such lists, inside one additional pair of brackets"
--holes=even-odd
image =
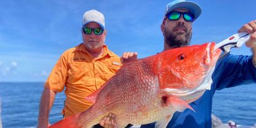
[[(44, 83), (0, 83), (3, 128), (36, 127)], [(50, 113), (50, 123), (61, 120), (64, 93), (57, 93)]]

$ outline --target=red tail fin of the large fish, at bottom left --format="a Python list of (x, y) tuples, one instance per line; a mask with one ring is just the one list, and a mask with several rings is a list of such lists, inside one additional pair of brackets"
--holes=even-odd
[(63, 120), (60, 120), (56, 124), (50, 125), (49, 128), (61, 128), (61, 127), (76, 128), (76, 127), (79, 127), (77, 125), (77, 117), (78, 117), (78, 115), (70, 116)]

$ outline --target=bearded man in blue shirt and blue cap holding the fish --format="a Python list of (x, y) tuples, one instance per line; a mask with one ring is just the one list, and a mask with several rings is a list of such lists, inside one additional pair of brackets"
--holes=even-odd
[[(198, 4), (177, 0), (167, 4), (161, 31), (164, 35), (164, 51), (189, 45), (192, 23), (199, 17), (201, 8)], [(216, 90), (256, 81), (256, 20), (245, 24), (238, 32), (252, 34), (246, 46), (252, 49), (252, 56), (234, 56), (228, 54), (218, 61), (212, 75), (211, 90), (189, 105), (195, 109), (176, 112), (168, 124), (170, 127), (211, 127), (212, 97)], [(155, 127), (155, 124), (141, 125), (141, 128)]]

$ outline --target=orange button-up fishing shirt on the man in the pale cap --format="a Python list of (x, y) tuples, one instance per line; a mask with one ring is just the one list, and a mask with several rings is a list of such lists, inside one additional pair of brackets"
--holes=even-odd
[(45, 87), (62, 92), (66, 87), (65, 118), (90, 108), (85, 97), (99, 89), (121, 67), (120, 58), (104, 45), (100, 58), (93, 58), (83, 44), (65, 51), (45, 82)]

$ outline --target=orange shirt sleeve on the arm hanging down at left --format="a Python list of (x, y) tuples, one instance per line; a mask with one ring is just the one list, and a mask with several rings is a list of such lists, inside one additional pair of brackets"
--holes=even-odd
[(46, 88), (49, 88), (54, 92), (62, 92), (65, 87), (68, 71), (66, 56), (67, 55), (65, 55), (65, 53), (61, 55), (60, 59), (57, 61), (56, 65), (52, 69), (51, 74), (44, 84)]

